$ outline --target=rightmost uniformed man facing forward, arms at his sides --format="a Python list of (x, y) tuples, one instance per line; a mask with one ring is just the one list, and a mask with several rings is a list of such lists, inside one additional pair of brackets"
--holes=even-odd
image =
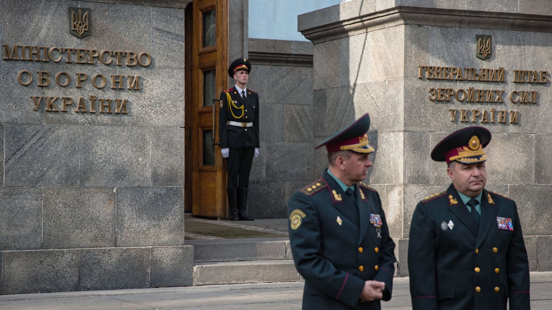
[[(413, 310), (529, 310), (529, 264), (516, 202), (485, 189), (491, 132), (467, 127), (440, 141), (452, 184), (412, 216), (408, 270)], [(510, 154), (508, 154), (509, 156)]]

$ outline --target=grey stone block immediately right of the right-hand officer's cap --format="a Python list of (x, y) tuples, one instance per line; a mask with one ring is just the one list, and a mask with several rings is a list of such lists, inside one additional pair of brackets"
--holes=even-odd
[[(518, 149), (516, 156), (503, 154)], [(487, 154), (487, 184), (533, 184), (533, 135), (497, 133), (492, 135)]]

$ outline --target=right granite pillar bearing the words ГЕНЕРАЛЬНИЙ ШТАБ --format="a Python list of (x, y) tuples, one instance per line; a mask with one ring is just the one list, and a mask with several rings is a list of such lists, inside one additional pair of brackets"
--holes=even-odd
[[(498, 13), (497, 13), (498, 12)], [(539, 15), (536, 15), (539, 14)], [(370, 113), (376, 151), (367, 182), (380, 193), (397, 243), (397, 275), (407, 276), (408, 231), (418, 201), (450, 183), (446, 165), (429, 153), (448, 133), (487, 127), (487, 189), (518, 205), (531, 271), (552, 271), (552, 93), (542, 84), (513, 83), (513, 70), (552, 72), (552, 7), (524, 0), (450, 2), (353, 0), (300, 15), (299, 31), (314, 43), (314, 143)], [(485, 25), (485, 26), (482, 26)], [(476, 35), (492, 35), (481, 60)], [(419, 78), (418, 66), (505, 69), (505, 82)], [(429, 100), (429, 88), (504, 90), (503, 103)], [(512, 103), (513, 90), (537, 90), (538, 103)], [(515, 99), (515, 98), (514, 98)], [(472, 122), (473, 110), (504, 110), (505, 123)], [(469, 121), (451, 121), (449, 109), (469, 109)], [(509, 112), (518, 111), (510, 123)], [(460, 114), (460, 111), (458, 111)], [(326, 167), (315, 152), (314, 170)]]

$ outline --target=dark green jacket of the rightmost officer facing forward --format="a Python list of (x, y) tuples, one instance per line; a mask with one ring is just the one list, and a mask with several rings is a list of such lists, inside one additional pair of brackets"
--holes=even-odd
[(529, 310), (529, 264), (516, 202), (483, 191), (481, 220), (453, 185), (412, 216), (408, 270), (413, 310)]

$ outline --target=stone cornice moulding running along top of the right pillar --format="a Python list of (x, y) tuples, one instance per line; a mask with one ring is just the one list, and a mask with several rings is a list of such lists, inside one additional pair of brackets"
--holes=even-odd
[(399, 6), (300, 31), (305, 38), (311, 40), (313, 43), (319, 43), (397, 25), (484, 28), (552, 33), (552, 16)]

